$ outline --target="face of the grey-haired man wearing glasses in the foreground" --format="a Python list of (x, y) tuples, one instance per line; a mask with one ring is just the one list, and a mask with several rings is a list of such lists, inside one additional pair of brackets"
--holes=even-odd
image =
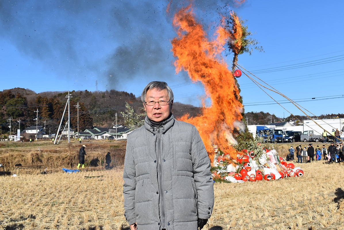
[[(146, 94), (146, 99), (144, 101), (168, 101), (170, 100), (167, 90), (157, 90), (149, 89)], [(144, 111), (147, 112), (147, 117), (155, 122), (160, 122), (170, 116), (172, 110), (172, 103), (169, 102), (165, 106), (155, 103), (154, 106), (147, 106), (146, 103), (143, 103)]]

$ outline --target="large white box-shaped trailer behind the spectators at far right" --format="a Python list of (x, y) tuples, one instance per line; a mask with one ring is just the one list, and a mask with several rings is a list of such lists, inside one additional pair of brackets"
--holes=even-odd
[[(332, 118), (332, 119), (313, 119), (313, 120), (303, 120), (303, 131), (314, 130), (314, 135), (321, 135), (324, 130), (327, 132), (327, 138), (334, 139), (331, 135), (332, 129), (340, 130), (343, 132), (344, 129), (344, 118)], [(317, 125), (316, 123), (319, 125)], [(301, 141), (302, 141), (301, 137)]]

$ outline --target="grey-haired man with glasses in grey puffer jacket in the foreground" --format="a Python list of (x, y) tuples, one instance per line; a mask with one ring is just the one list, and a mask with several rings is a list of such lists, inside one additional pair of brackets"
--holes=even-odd
[(210, 160), (197, 129), (174, 120), (173, 92), (152, 81), (141, 99), (147, 117), (128, 135), (123, 172), (125, 217), (132, 230), (196, 230), (214, 206)]

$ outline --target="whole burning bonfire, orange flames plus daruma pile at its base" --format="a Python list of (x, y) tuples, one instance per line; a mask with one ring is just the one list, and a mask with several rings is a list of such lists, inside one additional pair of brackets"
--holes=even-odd
[(220, 25), (216, 39), (211, 41), (194, 16), (191, 6), (174, 15), (173, 26), (178, 34), (171, 42), (174, 65), (177, 73), (184, 70), (193, 82), (202, 82), (212, 105), (205, 107), (203, 102), (200, 116), (189, 118), (186, 114), (180, 120), (195, 125), (200, 132), (209, 158), (214, 160), (214, 180), (237, 182), (302, 176), (302, 169), (286, 164), (275, 150), (262, 148), (258, 142), (252, 140), (247, 146), (237, 146), (235, 138), (245, 130), (241, 121), (243, 105), (236, 80), (221, 54), (229, 40), (233, 48), (240, 49), (241, 43), (235, 41), (240, 41), (241, 25), (237, 17), (238, 28), (232, 32)]

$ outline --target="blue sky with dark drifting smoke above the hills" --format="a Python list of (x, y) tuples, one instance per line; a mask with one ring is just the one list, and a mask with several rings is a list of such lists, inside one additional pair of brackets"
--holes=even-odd
[[(196, 1), (205, 28), (225, 1)], [(141, 94), (152, 80), (166, 81), (175, 101), (201, 105), (202, 84), (175, 74), (170, 41), (176, 36), (166, 1), (2, 1), (0, 90), (35, 92), (116, 89)], [(182, 6), (173, 1), (172, 10)], [(231, 9), (264, 53), (239, 55), (238, 64), (299, 104), (308, 114), (343, 113), (344, 32), (342, 1), (253, 1)], [(224, 57), (228, 65), (232, 55)], [(97, 82), (97, 86), (96, 86)], [(238, 78), (245, 111), (278, 117), (283, 109), (244, 74)], [(96, 88), (97, 87), (97, 88)], [(281, 102), (283, 97), (270, 96)], [(312, 99), (314, 98), (314, 99)]]

